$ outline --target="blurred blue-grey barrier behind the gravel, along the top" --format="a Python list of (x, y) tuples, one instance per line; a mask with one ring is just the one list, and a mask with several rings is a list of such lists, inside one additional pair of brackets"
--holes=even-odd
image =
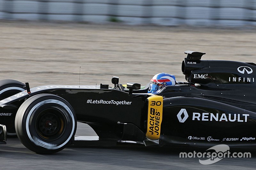
[(256, 0), (0, 0), (0, 19), (256, 25)]

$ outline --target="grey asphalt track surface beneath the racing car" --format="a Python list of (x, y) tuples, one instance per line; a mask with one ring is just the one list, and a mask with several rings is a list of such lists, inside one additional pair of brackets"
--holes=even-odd
[[(84, 124), (78, 124), (77, 135), (94, 135)], [(84, 133), (86, 131), (86, 133)], [(121, 145), (115, 147), (68, 146), (52, 155), (40, 155), (28, 150), (17, 138), (0, 145), (1, 169), (255, 169), (256, 152), (251, 158), (223, 158), (211, 165), (202, 165), (199, 158), (180, 158), (180, 152), (205, 152), (190, 147), (144, 147)]]

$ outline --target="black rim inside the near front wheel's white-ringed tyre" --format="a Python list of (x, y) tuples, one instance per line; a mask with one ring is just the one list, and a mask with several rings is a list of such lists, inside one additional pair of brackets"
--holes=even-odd
[(54, 141), (63, 135), (66, 124), (63, 112), (57, 108), (50, 108), (38, 114), (35, 126), (39, 137), (47, 141)]

